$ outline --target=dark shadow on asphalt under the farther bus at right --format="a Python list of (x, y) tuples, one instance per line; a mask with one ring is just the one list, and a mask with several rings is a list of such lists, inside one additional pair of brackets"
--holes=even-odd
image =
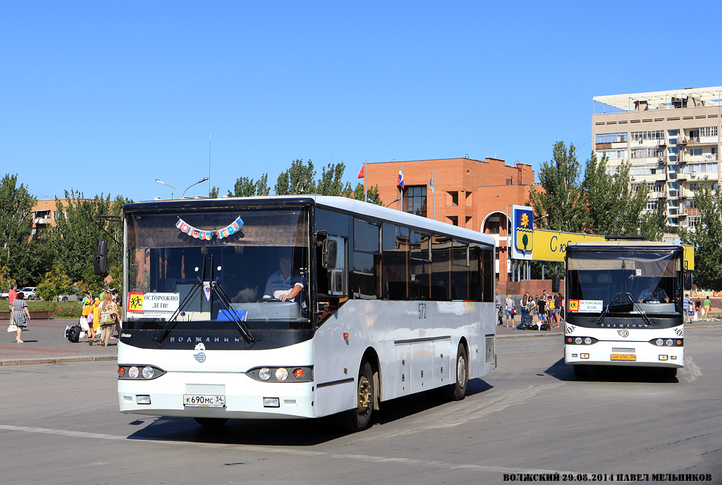
[(584, 376), (574, 375), (574, 366), (564, 359), (554, 362), (544, 372), (563, 381), (598, 383), (678, 383), (677, 377), (664, 377), (662, 367), (636, 367), (628, 365), (588, 365)]

